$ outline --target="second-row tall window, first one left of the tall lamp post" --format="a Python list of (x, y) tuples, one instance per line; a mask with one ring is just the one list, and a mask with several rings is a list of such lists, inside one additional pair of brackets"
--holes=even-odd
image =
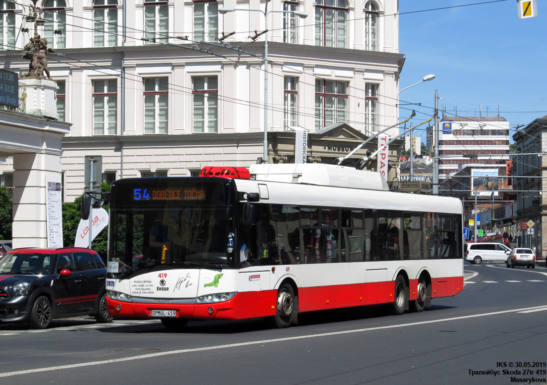
[(216, 76), (192, 78), (194, 133), (218, 130), (218, 80)]

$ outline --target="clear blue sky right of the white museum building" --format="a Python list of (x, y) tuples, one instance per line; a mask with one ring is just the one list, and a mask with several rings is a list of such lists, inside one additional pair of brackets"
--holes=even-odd
[[(399, 2), (399, 51), (406, 58), (400, 89), (435, 75), (400, 94), (400, 103), (422, 103), (415, 107), (414, 124), (433, 113), (435, 90), (447, 116), (454, 116), (455, 108), (458, 116), (479, 116), (480, 104), (484, 116), (487, 107), (488, 116), (496, 116), (499, 106), (510, 127), (547, 115), (547, 2), (537, 0), (538, 17), (523, 20), (515, 0), (405, 14), (480, 2)], [(409, 115), (400, 109), (401, 117)], [(424, 131), (421, 136), (424, 141)]]

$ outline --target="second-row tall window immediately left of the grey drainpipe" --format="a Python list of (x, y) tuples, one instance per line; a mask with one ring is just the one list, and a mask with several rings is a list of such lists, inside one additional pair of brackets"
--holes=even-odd
[(93, 135), (116, 134), (117, 80), (93, 81)]

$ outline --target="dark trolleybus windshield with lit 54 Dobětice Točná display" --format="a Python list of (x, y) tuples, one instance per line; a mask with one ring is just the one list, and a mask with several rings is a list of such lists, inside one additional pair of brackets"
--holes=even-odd
[(124, 274), (158, 265), (233, 267), (236, 210), (225, 196), (218, 180), (118, 182), (111, 191), (109, 258), (125, 265)]

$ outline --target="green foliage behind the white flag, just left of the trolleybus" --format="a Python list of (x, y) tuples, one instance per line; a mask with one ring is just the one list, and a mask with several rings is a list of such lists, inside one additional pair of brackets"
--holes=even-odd
[[(110, 186), (103, 182), (101, 183), (101, 191), (103, 193), (110, 192)], [(77, 197), (74, 202), (65, 202), (62, 204), (63, 215), (63, 246), (74, 246), (76, 232), (80, 224), (80, 205), (82, 205), (82, 196)], [(108, 205), (103, 208), (108, 212)], [(108, 226), (104, 228), (97, 237), (91, 241), (91, 248), (95, 250), (103, 260), (106, 261), (108, 246)]]

